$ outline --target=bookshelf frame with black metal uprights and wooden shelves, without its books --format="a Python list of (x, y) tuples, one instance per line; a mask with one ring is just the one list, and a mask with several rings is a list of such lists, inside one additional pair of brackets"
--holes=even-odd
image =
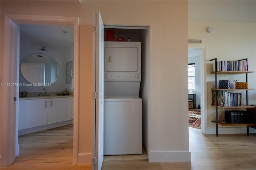
[[(216, 94), (216, 99), (217, 97), (217, 91), (241, 91), (245, 90), (246, 91), (246, 105), (241, 105), (241, 106), (231, 106), (231, 107), (225, 107), (225, 106), (218, 106), (217, 101), (216, 105), (212, 105), (216, 108), (215, 114), (216, 114), (216, 121), (212, 121), (212, 123), (216, 124), (216, 136), (218, 136), (218, 125), (221, 126), (247, 126), (247, 135), (249, 135), (249, 127), (250, 126), (255, 126), (256, 123), (220, 123), (218, 122), (218, 108), (222, 109), (237, 109), (237, 108), (254, 108), (255, 106), (248, 105), (248, 90), (254, 90), (254, 89), (219, 89), (218, 87), (218, 74), (245, 74), (246, 75), (246, 82), (248, 82), (248, 73), (254, 73), (254, 71), (217, 71), (217, 58), (211, 59), (210, 61), (215, 61), (215, 72), (212, 72), (211, 74), (215, 75), (215, 87), (211, 88), (212, 91), (215, 91)], [(247, 59), (241, 59), (238, 61), (246, 61), (247, 64)]]

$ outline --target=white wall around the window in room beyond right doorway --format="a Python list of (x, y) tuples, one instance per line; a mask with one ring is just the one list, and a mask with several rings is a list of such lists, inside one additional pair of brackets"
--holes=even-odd
[(195, 63), (195, 90), (192, 90), (193, 93), (196, 93), (196, 108), (198, 105), (201, 106), (201, 56), (188, 57), (188, 63)]

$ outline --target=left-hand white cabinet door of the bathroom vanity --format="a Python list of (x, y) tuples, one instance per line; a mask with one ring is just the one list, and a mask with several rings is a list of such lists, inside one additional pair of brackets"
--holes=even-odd
[(19, 101), (19, 130), (47, 125), (48, 99)]

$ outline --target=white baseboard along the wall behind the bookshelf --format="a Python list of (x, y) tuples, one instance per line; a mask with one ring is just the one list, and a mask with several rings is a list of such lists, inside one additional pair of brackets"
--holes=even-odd
[[(220, 125), (218, 126), (218, 133), (219, 134), (241, 134), (247, 133), (246, 127), (226, 127), (222, 128)], [(256, 129), (249, 128), (249, 133), (256, 133)], [(206, 134), (216, 134), (216, 128), (207, 128)]]

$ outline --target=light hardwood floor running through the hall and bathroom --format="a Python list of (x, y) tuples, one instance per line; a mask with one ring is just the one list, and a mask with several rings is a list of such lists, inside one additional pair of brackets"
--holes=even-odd
[[(202, 134), (189, 128), (191, 162), (104, 161), (102, 170), (256, 170), (256, 134)], [(91, 170), (72, 165), (72, 125), (19, 137), (20, 155), (1, 170)]]

